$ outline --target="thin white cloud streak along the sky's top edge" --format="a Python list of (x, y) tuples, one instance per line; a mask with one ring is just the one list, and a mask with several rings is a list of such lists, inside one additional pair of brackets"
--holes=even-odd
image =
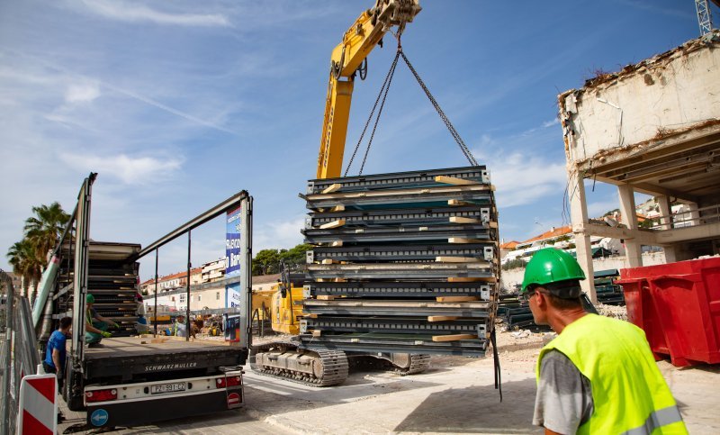
[(124, 1), (83, 0), (83, 5), (94, 14), (129, 23), (157, 23), (182, 26), (227, 27), (229, 20), (221, 14), (170, 14)]

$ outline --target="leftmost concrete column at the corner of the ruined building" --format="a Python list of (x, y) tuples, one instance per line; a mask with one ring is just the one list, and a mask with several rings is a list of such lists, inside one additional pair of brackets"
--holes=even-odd
[(598, 303), (598, 295), (595, 293), (595, 282), (593, 281), (592, 250), (590, 249), (590, 234), (585, 232), (585, 225), (588, 223), (588, 204), (585, 200), (585, 183), (579, 177), (576, 168), (568, 168), (568, 192), (570, 196), (570, 218), (572, 220), (572, 233), (575, 236), (575, 252), (578, 255), (578, 263), (585, 271), (587, 279), (581, 281), (582, 291), (585, 292), (593, 304)]

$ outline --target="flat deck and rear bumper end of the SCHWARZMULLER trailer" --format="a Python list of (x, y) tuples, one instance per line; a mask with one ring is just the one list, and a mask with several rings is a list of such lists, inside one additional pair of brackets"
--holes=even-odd
[[(121, 337), (85, 351), (90, 426), (137, 426), (244, 403), (247, 348), (222, 341)], [(103, 424), (100, 424), (103, 423)]]

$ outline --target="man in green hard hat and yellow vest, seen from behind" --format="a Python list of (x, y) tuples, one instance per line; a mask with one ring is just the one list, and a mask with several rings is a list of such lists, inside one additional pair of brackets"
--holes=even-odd
[(580, 265), (560, 249), (536, 252), (522, 295), (557, 338), (537, 358), (533, 424), (545, 433), (688, 433), (644, 331), (585, 313)]

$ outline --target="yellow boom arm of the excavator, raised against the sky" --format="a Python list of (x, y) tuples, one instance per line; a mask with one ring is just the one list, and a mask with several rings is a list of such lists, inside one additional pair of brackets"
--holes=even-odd
[(419, 0), (376, 0), (332, 51), (317, 178), (340, 177), (356, 71), (385, 33), (393, 26), (402, 32), (421, 9)]

